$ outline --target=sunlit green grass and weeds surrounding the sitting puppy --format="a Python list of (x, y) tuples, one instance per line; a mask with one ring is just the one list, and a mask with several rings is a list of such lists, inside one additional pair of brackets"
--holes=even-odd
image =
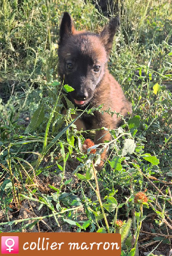
[[(96, 174), (99, 152), (81, 150), (92, 135), (76, 131), (70, 102), (67, 115), (61, 113), (57, 43), (64, 11), (78, 29), (99, 32), (108, 19), (89, 1), (1, 1), (1, 232), (120, 232), (122, 255), (137, 247), (141, 255), (143, 244), (146, 252), (169, 252), (171, 6), (167, 0), (121, 4), (109, 68), (133, 103), (133, 116), (111, 131), (110, 156)], [(134, 204), (140, 191), (148, 202)], [(140, 241), (140, 232), (150, 238)]]

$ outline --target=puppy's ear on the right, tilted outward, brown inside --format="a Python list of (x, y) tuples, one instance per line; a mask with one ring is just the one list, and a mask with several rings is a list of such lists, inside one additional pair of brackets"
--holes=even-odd
[(110, 23), (104, 27), (103, 31), (101, 31), (99, 35), (108, 54), (110, 54), (111, 47), (113, 44), (113, 37), (119, 25), (120, 21), (119, 17), (117, 16), (110, 20)]

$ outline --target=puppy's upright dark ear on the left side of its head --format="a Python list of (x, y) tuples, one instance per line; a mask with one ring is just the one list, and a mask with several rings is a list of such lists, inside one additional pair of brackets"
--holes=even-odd
[(73, 33), (75, 33), (75, 28), (73, 26), (71, 15), (69, 15), (68, 12), (64, 12), (60, 28), (60, 44), (65, 35), (71, 36)]

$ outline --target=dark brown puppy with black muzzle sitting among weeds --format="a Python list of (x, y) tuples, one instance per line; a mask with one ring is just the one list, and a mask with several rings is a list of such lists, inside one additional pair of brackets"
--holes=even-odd
[[(113, 36), (119, 25), (118, 18), (111, 19), (99, 35), (95, 33), (76, 31), (73, 20), (68, 12), (62, 17), (59, 42), (59, 74), (64, 84), (69, 84), (75, 90), (68, 93), (69, 99), (78, 109), (99, 107), (111, 109), (122, 116), (132, 113), (131, 103), (125, 98), (120, 84), (108, 71), (107, 62)], [(94, 116), (83, 114), (76, 121), (77, 129), (97, 129), (106, 127), (115, 129), (120, 122), (117, 115), (94, 111)], [(96, 132), (95, 144), (111, 140), (111, 135), (105, 130)], [(106, 150), (101, 154), (101, 164), (106, 158)]]

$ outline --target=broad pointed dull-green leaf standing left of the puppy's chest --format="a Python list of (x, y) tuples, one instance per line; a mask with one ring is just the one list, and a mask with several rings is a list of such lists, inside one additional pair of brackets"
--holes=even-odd
[(39, 106), (39, 108), (36, 109), (36, 111), (32, 115), (31, 122), (25, 129), (25, 133), (35, 131), (35, 129), (39, 127), (39, 125), (43, 122), (44, 118), (45, 118), (44, 108), (43, 108), (43, 104), (41, 104), (41, 106)]

